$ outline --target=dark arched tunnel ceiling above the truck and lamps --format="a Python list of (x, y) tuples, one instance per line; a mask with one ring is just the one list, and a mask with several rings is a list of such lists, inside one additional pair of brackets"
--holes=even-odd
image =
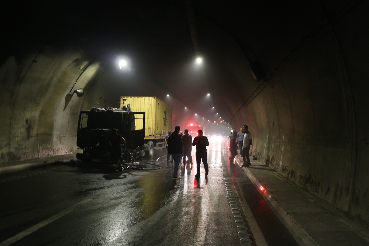
[[(310, 2), (195, 2), (197, 38), (204, 60), (196, 67), (184, 6), (182, 1), (13, 4), (6, 8), (4, 22), (8, 23), (5, 33), (12, 38), (3, 46), (1, 60), (10, 55), (17, 58), (20, 47), (36, 52), (46, 46), (79, 46), (89, 59), (104, 67), (101, 77), (106, 90), (111, 90), (110, 96), (105, 95), (108, 100), (117, 101), (122, 90), (125, 96), (158, 96), (206, 119), (217, 119), (216, 111), (230, 122), (258, 85), (242, 49), (269, 74), (323, 15), (319, 4)], [(134, 76), (115, 72), (116, 60), (122, 55), (131, 60), (135, 75), (147, 77), (161, 90), (137, 90), (128, 82), (137, 83)], [(124, 83), (123, 88), (118, 83)], [(172, 99), (166, 98), (166, 93)], [(184, 116), (182, 113), (176, 112)], [(176, 124), (186, 122), (177, 119)]]

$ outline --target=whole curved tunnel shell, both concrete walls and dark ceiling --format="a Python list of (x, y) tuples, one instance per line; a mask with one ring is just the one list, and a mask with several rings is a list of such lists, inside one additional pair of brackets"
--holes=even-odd
[(99, 97), (156, 96), (173, 105), (173, 129), (193, 122), (228, 135), (248, 125), (253, 156), (368, 228), (368, 9), (347, 0), (3, 3), (1, 164), (75, 153), (79, 112)]

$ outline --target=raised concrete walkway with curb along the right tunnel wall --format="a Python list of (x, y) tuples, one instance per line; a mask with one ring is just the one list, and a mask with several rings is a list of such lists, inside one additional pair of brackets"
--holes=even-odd
[(272, 168), (251, 160), (242, 170), (300, 245), (369, 245), (367, 229)]

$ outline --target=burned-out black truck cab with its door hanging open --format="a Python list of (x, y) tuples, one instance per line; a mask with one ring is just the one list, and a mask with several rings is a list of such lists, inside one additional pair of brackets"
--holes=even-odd
[[(113, 146), (117, 129), (125, 141), (121, 156)], [(77, 159), (114, 163), (120, 157), (129, 160), (143, 156), (145, 112), (132, 112), (129, 104), (122, 108), (92, 108), (80, 112), (77, 127)], [(123, 156), (122, 156), (123, 155)], [(118, 157), (117, 157), (118, 156)]]

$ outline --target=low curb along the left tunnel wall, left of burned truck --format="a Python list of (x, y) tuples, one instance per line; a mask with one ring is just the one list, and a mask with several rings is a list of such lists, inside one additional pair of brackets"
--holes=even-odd
[(48, 166), (55, 162), (69, 162), (71, 160), (77, 160), (76, 154), (46, 157), (38, 160), (28, 160), (22, 162), (9, 162), (0, 165), (0, 174), (34, 169), (42, 166)]

